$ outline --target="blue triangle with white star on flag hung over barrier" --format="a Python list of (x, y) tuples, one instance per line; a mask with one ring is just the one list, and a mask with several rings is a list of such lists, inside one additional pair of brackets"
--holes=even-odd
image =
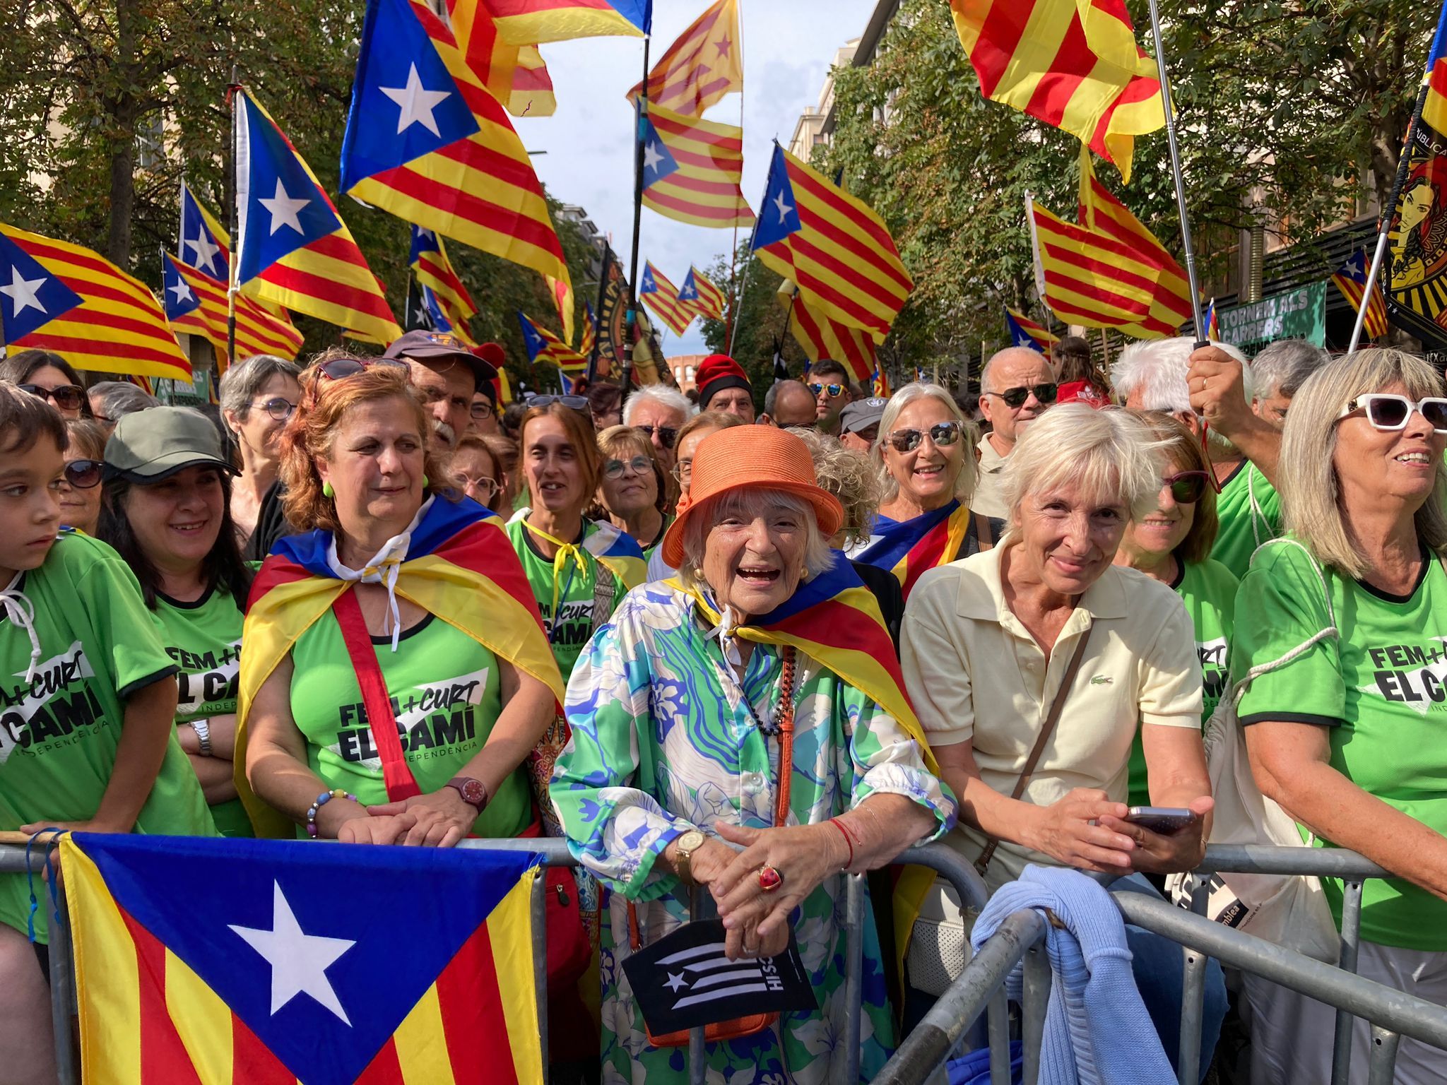
[(307, 1085), (356, 1081), (537, 858), (307, 841), (75, 842), (126, 914)]

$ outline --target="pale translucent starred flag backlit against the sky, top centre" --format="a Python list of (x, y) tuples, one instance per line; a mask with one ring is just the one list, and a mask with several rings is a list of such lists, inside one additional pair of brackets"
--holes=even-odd
[(650, 103), (641, 132), (644, 204), (693, 226), (754, 223), (738, 187), (744, 176), (744, 129), (670, 113)]

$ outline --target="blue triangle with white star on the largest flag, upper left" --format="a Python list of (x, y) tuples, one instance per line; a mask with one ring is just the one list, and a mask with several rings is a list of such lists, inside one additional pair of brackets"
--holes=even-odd
[(408, 0), (368, 0), (341, 191), (480, 132)]

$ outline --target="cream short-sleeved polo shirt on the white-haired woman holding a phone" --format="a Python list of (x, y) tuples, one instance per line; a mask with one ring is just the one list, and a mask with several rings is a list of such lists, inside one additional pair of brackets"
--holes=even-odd
[[(1095, 787), (1124, 801), (1142, 723), (1201, 729), (1201, 667), (1185, 606), (1166, 584), (1110, 566), (1046, 657), (1004, 600), (1003, 553), (996, 547), (929, 570), (904, 608), (904, 684), (930, 745), (972, 742), (984, 783), (1010, 794), (1078, 639), (1090, 632), (1065, 710), (1020, 799), (1049, 806), (1072, 788)], [(974, 862), (985, 836), (961, 816), (948, 842)], [(985, 881), (994, 888), (1029, 862), (1058, 865), (1001, 841)]]

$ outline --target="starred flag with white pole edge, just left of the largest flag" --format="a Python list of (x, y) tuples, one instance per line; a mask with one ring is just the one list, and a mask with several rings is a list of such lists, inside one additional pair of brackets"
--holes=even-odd
[(399, 339), (382, 284), (291, 140), (245, 88), (236, 109), (237, 282), (242, 292), (346, 328)]

